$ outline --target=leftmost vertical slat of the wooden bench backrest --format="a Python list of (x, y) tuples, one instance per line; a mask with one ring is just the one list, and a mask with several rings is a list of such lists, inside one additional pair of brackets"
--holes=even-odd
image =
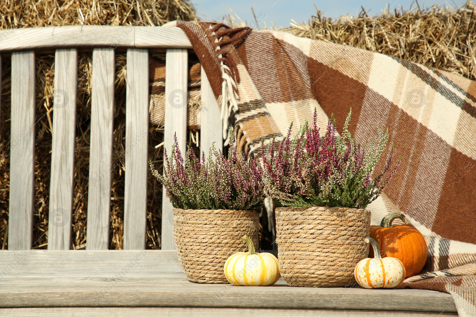
[(35, 53), (11, 55), (8, 249), (30, 250), (33, 233)]

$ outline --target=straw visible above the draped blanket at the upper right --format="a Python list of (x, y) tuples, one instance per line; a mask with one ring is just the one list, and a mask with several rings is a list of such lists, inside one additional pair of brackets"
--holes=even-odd
[[(316, 9), (317, 10), (317, 9)], [(369, 17), (362, 8), (355, 19), (322, 16), (282, 29), (299, 37), (350, 45), (428, 67), (476, 79), (476, 5), (468, 0), (459, 9), (439, 5), (388, 12)]]

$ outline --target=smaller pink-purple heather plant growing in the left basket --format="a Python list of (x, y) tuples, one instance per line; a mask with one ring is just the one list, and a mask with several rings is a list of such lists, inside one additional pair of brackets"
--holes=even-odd
[[(233, 134), (231, 134), (233, 135)], [(150, 170), (164, 184), (175, 208), (259, 210), (264, 200), (262, 170), (255, 159), (249, 164), (230, 142), (228, 157), (213, 144), (201, 161), (188, 146), (184, 159), (174, 136), (172, 153), (164, 151), (164, 174), (151, 161)]]

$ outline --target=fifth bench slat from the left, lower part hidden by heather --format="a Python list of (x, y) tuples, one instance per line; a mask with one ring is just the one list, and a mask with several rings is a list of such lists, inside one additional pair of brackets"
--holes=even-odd
[[(177, 134), (179, 149), (185, 157), (187, 149), (187, 79), (186, 49), (169, 48), (165, 57), (165, 127), (164, 146), (170, 154)], [(175, 250), (172, 203), (162, 190), (162, 250)]]

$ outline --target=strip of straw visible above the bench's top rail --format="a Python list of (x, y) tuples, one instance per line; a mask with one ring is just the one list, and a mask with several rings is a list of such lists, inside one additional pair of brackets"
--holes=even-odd
[(189, 0), (4, 0), (0, 29), (58, 25), (149, 25), (196, 19)]

